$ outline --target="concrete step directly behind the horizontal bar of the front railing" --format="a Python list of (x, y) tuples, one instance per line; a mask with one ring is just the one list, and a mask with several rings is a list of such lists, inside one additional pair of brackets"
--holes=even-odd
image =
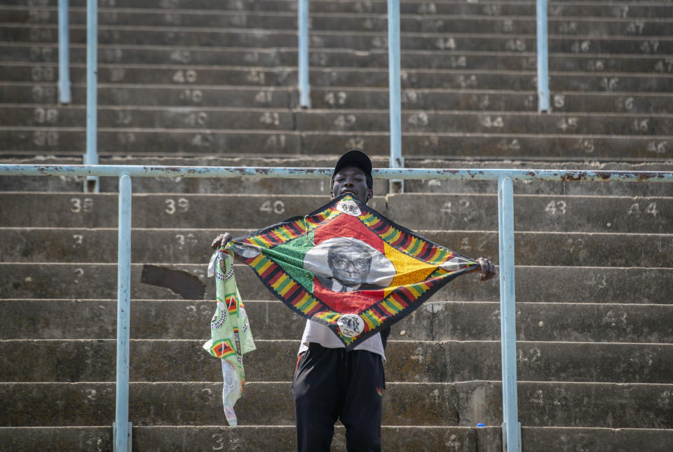
[[(405, 149), (405, 153), (406, 153)], [(114, 157), (100, 156), (100, 163), (106, 165), (163, 165), (163, 166), (252, 166), (252, 167), (332, 167), (338, 155), (315, 155), (311, 158), (291, 156), (288, 158), (243, 158), (243, 157)], [(374, 167), (388, 167), (388, 156), (372, 156)], [(0, 158), (1, 163), (20, 163), (28, 165), (81, 165), (82, 158), (35, 156), (22, 158)], [(407, 167), (420, 168), (470, 168), (473, 170), (538, 169), (538, 170), (613, 170), (634, 171), (673, 171), (673, 162), (653, 160), (650, 162), (630, 163), (620, 161), (573, 161), (564, 158), (563, 163), (544, 160), (460, 160), (438, 158), (424, 160), (407, 156)], [(201, 178), (165, 178), (135, 177), (132, 181), (134, 193), (256, 193), (278, 195), (320, 193), (329, 196), (327, 179), (201, 179)], [(77, 192), (83, 186), (82, 177), (0, 177), (0, 191), (62, 191)], [(102, 177), (100, 191), (116, 193), (118, 180), (115, 177)], [(407, 180), (407, 193), (494, 193), (492, 181), (461, 180)], [(515, 190), (520, 194), (548, 195), (599, 195), (599, 196), (670, 196), (672, 189), (667, 184), (625, 184), (621, 182), (578, 182), (578, 181), (528, 181), (516, 182)], [(374, 194), (388, 192), (388, 182), (374, 179)]]

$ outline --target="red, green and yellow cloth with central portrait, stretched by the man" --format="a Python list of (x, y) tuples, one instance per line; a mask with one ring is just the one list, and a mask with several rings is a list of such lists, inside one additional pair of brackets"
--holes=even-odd
[(288, 308), (349, 349), (480, 267), (349, 194), (229, 243)]

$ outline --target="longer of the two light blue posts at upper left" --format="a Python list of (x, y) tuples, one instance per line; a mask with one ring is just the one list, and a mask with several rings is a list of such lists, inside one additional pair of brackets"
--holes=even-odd
[[(86, 0), (86, 155), (85, 165), (98, 165), (98, 3)], [(98, 177), (87, 176), (84, 191), (98, 193)]]

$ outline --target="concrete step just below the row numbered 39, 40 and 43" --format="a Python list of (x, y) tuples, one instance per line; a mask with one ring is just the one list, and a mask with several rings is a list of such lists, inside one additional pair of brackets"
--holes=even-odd
[[(229, 229), (234, 237), (246, 230)], [(498, 264), (496, 231), (417, 231), (435, 243), (468, 255), (487, 256)], [(208, 259), (220, 229), (135, 229), (133, 262), (199, 263)], [(116, 228), (0, 228), (0, 255), (11, 262), (114, 262)], [(48, 247), (45, 246), (48, 244)], [(606, 267), (673, 266), (673, 234), (515, 232), (517, 261), (526, 265)], [(638, 249), (639, 253), (629, 253)]]

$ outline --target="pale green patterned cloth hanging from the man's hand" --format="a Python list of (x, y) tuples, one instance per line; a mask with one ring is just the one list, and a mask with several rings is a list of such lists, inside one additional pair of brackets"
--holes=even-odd
[[(256, 349), (245, 306), (240, 299), (236, 277), (233, 275), (233, 250), (220, 247), (210, 257), (208, 277), (215, 276), (217, 309), (210, 321), (210, 340), (203, 348), (222, 360), (222, 404), (231, 427), (238, 421), (233, 405), (240, 399), (245, 384), (243, 355)], [(224, 267), (224, 268), (223, 268)]]

